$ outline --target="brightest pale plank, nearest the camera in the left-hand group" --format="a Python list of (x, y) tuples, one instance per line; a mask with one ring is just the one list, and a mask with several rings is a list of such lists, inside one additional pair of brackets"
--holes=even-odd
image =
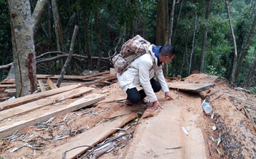
[(3, 139), (4, 137), (12, 135), (12, 133), (16, 130), (24, 129), (28, 126), (33, 126), (35, 123), (45, 121), (49, 118), (54, 117), (55, 115), (63, 115), (63, 114), (72, 112), (74, 110), (79, 110), (82, 107), (92, 105), (93, 103), (99, 102), (104, 99), (105, 99), (104, 95), (91, 94), (81, 99), (77, 99), (76, 101), (72, 102), (70, 105), (67, 105), (66, 107), (63, 107), (59, 110), (55, 110), (54, 112), (44, 113), (38, 118), (31, 118), (28, 121), (18, 121), (16, 123), (13, 123), (12, 125), (2, 126), (0, 128), (0, 139)]

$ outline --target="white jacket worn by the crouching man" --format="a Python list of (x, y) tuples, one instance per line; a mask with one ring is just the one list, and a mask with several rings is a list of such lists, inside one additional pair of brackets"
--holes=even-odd
[(141, 57), (138, 57), (136, 60), (131, 62), (130, 68), (125, 70), (122, 75), (117, 73), (120, 88), (123, 89), (124, 93), (127, 89), (142, 86), (150, 102), (158, 100), (158, 97), (156, 97), (150, 84), (151, 78), (155, 77), (157, 79), (163, 92), (169, 91), (166, 80), (163, 76), (163, 64), (158, 67), (158, 58), (155, 57), (155, 54), (152, 52), (153, 46), (154, 45), (150, 45), (148, 49), (151, 55), (141, 55)]

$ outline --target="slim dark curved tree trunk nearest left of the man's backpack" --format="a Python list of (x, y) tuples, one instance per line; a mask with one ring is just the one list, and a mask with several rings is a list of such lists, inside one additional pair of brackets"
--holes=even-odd
[(98, 47), (98, 62), (97, 62), (96, 70), (100, 70), (101, 58), (102, 58), (102, 52), (103, 52), (103, 43), (101, 40), (101, 34), (99, 33), (99, 28), (98, 28), (98, 11), (97, 10), (94, 13), (94, 20), (95, 20), (95, 30), (96, 30), (96, 35), (98, 38), (98, 46), (99, 46)]

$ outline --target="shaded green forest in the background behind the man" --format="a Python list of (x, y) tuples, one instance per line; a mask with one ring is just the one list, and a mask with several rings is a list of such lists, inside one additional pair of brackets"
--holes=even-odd
[[(37, 1), (30, 2), (32, 14)], [(168, 28), (168, 36), (171, 35), (168, 40), (177, 49), (176, 57), (168, 64), (168, 76), (181, 75), (184, 78), (193, 70), (199, 70), (227, 78), (233, 86), (256, 91), (256, 1), (228, 1), (230, 19), (225, 4), (227, 0), (167, 2), (168, 26), (172, 27), (171, 30)], [(156, 39), (159, 36), (156, 30), (158, 5), (153, 0), (59, 0), (58, 14), (63, 38), (58, 44), (60, 40), (56, 38), (53, 17), (55, 12), (51, 3), (47, 3), (39, 28), (34, 33), (36, 73), (61, 73), (75, 25), (79, 30), (66, 75), (81, 75), (84, 70), (109, 70), (113, 55), (119, 52), (125, 41), (137, 34), (159, 45)], [(0, 0), (0, 8), (0, 65), (8, 65), (0, 69), (2, 81), (9, 73), (13, 56), (7, 1)], [(236, 52), (237, 77), (232, 81)]]

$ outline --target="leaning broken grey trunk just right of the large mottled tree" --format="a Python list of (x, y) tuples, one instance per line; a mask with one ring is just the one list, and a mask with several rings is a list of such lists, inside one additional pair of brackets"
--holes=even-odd
[(58, 86), (58, 87), (61, 86), (61, 82), (63, 81), (64, 75), (66, 73), (66, 68), (68, 68), (69, 62), (72, 59), (72, 54), (73, 54), (73, 49), (74, 49), (74, 41), (76, 40), (76, 37), (77, 37), (77, 31), (78, 31), (78, 26), (75, 25), (74, 26), (74, 33), (73, 33), (73, 36), (72, 36), (72, 39), (71, 39), (71, 44), (70, 44), (70, 49), (69, 49), (69, 56), (68, 56), (68, 58), (66, 58), (66, 62), (65, 62), (64, 66), (61, 70), (61, 75), (58, 78), (58, 81), (57, 81), (57, 84), (56, 84), (56, 86)]

